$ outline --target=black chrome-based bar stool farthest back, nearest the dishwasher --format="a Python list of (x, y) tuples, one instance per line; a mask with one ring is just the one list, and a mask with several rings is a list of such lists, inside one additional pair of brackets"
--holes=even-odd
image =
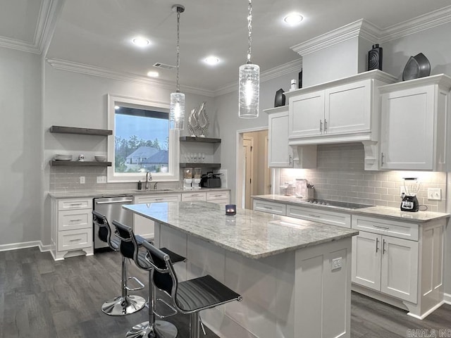
[[(111, 250), (119, 251), (121, 241), (116, 237), (111, 237), (111, 226), (106, 219), (105, 215), (102, 215), (98, 211), (92, 211), (92, 220), (99, 226), (99, 238), (106, 242)], [(140, 287), (130, 288), (127, 286), (128, 280), (135, 280)], [(146, 300), (142, 296), (135, 296), (128, 294), (129, 291), (136, 291), (144, 288), (144, 284), (140, 282), (136, 277), (127, 277), (127, 258), (122, 256), (122, 277), (121, 277), (121, 296), (117, 296), (109, 301), (106, 301), (101, 306), (101, 311), (107, 315), (129, 315), (135, 313), (144, 308)]]

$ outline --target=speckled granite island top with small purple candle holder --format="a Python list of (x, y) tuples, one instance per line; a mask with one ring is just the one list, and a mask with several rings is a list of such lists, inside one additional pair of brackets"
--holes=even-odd
[(123, 208), (255, 259), (359, 233), (344, 227), (247, 209), (237, 209), (234, 216), (226, 215), (224, 206), (204, 201), (131, 204)]

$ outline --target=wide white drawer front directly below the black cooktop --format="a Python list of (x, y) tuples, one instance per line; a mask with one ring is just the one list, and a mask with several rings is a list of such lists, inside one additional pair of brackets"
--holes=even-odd
[(351, 215), (336, 211), (323, 211), (316, 208), (304, 208), (302, 206), (287, 206), (287, 216), (311, 220), (339, 227), (351, 227)]

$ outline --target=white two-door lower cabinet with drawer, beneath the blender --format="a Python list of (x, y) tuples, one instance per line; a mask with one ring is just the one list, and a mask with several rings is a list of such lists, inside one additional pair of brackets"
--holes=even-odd
[(352, 215), (359, 230), (352, 238), (354, 289), (425, 318), (443, 303), (445, 225), (445, 219), (416, 224)]

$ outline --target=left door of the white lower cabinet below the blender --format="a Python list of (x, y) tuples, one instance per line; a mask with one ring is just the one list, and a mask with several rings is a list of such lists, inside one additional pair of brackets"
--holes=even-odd
[(381, 235), (359, 232), (352, 237), (352, 282), (380, 291)]

